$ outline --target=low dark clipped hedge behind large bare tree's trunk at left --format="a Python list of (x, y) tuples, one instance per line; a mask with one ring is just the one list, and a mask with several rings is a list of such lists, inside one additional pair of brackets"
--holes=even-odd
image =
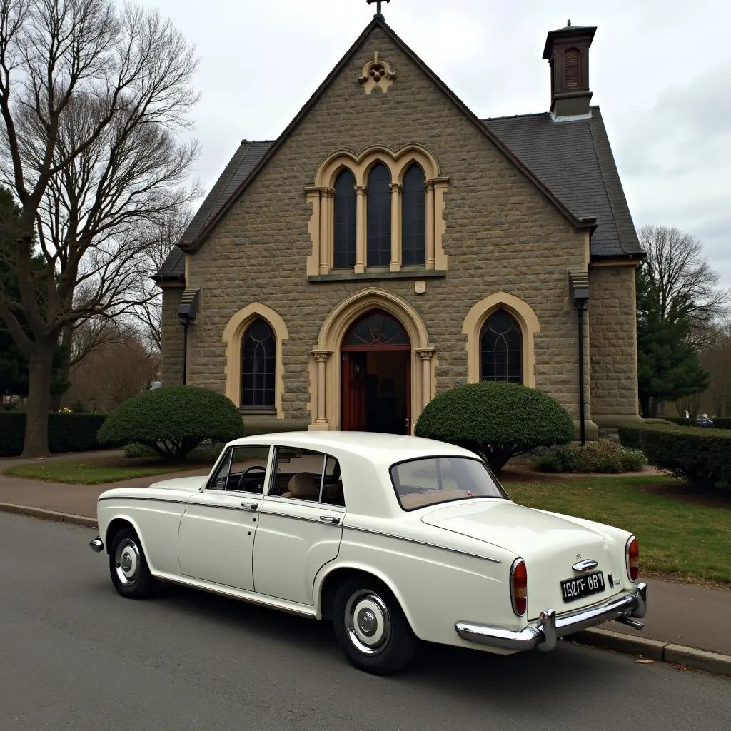
[[(83, 452), (102, 447), (96, 432), (106, 414), (49, 414), (48, 448), (51, 452)], [(0, 412), (0, 457), (16, 457), (23, 451), (26, 414)]]

